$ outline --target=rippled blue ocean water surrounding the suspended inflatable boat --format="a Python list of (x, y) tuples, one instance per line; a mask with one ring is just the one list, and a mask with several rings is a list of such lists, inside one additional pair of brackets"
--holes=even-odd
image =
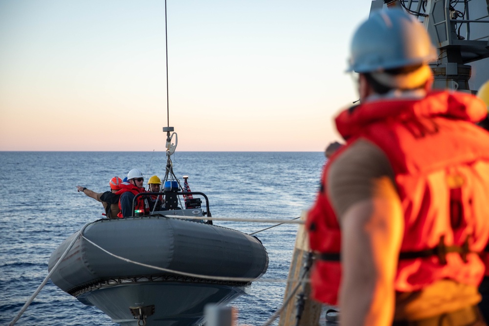
[[(178, 178), (209, 198), (212, 217), (299, 217), (319, 185), (322, 152), (176, 152)], [(101, 203), (76, 191), (81, 185), (109, 190), (109, 180), (133, 168), (165, 174), (164, 152), (0, 152), (0, 325), (8, 325), (47, 275), (51, 253), (89, 221), (102, 217)], [(216, 221), (252, 233), (269, 223)], [(256, 236), (267, 248), (265, 279), (286, 280), (297, 232), (283, 224)], [(286, 283), (255, 282), (230, 305), (239, 325), (262, 325), (282, 305)], [(115, 326), (49, 281), (19, 326)]]

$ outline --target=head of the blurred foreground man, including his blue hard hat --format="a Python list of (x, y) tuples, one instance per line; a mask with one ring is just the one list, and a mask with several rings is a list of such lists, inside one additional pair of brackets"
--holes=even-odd
[(436, 48), (423, 25), (400, 9), (371, 15), (354, 34), (350, 52), (348, 70), (356, 75), (361, 103), (403, 92), (422, 97), (432, 86), (427, 63), (436, 60)]

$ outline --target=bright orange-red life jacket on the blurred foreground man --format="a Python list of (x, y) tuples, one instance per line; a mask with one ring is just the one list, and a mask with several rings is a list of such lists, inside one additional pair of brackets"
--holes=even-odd
[[(489, 237), (489, 133), (474, 122), (485, 115), (486, 106), (472, 95), (438, 91), (422, 100), (369, 102), (336, 118), (347, 139), (342, 150), (366, 139), (394, 170), (405, 224), (397, 291), (441, 279), (480, 283), (485, 266), (479, 253)], [(326, 191), (318, 194), (307, 225), (311, 249), (320, 253), (311, 273), (313, 297), (336, 304), (341, 236)]]

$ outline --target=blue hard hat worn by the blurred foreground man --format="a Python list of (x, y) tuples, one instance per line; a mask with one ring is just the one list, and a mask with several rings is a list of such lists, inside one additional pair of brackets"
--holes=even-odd
[(402, 9), (373, 12), (356, 30), (349, 71), (374, 72), (426, 64), (437, 51), (423, 25)]

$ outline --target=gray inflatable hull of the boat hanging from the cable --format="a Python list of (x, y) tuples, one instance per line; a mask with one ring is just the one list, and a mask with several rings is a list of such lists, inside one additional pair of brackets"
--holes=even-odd
[(89, 224), (83, 236), (130, 261), (185, 273), (249, 279), (227, 281), (164, 272), (120, 260), (78, 233), (72, 235), (49, 259), (51, 270), (78, 237), (53, 272), (52, 282), (124, 326), (137, 325), (134, 309), (142, 307), (151, 310), (147, 325), (199, 324), (205, 304), (226, 304), (237, 298), (268, 266), (267, 252), (255, 237), (176, 218), (102, 219)]

